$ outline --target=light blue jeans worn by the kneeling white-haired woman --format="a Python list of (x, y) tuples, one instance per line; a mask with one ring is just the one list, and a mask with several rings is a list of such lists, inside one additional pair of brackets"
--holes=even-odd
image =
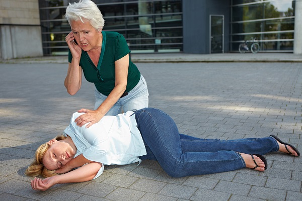
[[(139, 110), (148, 107), (148, 87), (146, 80), (142, 75), (140, 75), (140, 80), (134, 86), (134, 88), (128, 91), (128, 95), (121, 97), (117, 100), (114, 106), (106, 113), (106, 115), (116, 116), (122, 112)], [(95, 110), (100, 107), (100, 105), (107, 98), (106, 95), (100, 93), (97, 88), (95, 88)]]

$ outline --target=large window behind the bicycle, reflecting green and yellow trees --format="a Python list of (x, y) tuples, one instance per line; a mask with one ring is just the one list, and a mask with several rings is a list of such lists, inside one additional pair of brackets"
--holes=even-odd
[(263, 51), (292, 51), (294, 1), (233, 0), (231, 51), (241, 41), (256, 37)]

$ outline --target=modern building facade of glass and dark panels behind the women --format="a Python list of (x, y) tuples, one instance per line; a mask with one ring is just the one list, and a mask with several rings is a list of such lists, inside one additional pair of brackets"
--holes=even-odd
[[(31, 22), (28, 26), (41, 30), (43, 55), (66, 55), (68, 47), (65, 36), (70, 32), (70, 27), (64, 19), (64, 12), (67, 5), (75, 0), (27, 1), (39, 3), (40, 22), (33, 21), (35, 24)], [(254, 39), (259, 42), (261, 52), (302, 54), (302, 39), (299, 37), (302, 34), (302, 23), (298, 23), (302, 20), (302, 0), (93, 2), (98, 5), (105, 19), (103, 30), (123, 34), (132, 53), (238, 52), (240, 43)], [(39, 23), (40, 26), (36, 26)], [(3, 29), (4, 26), (13, 27), (14, 24), (2, 21), (0, 26)], [(31, 36), (26, 37), (26, 41), (32, 40)]]

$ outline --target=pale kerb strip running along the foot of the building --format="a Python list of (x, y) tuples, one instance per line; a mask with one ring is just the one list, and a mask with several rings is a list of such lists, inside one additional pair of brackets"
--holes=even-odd
[[(132, 54), (133, 62), (141, 63), (187, 63), (187, 62), (302, 62), (301, 54), (292, 53), (225, 53), (225, 54)], [(0, 63), (66, 63), (67, 56), (45, 56), (0, 60)]]

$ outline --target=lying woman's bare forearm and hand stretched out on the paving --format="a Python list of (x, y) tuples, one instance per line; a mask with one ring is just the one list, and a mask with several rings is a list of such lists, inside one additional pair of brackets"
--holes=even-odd
[(31, 186), (34, 190), (44, 191), (58, 183), (89, 181), (97, 175), (102, 165), (103, 164), (99, 162), (91, 162), (65, 174), (55, 175), (45, 179), (34, 178), (34, 180), (31, 181)]

